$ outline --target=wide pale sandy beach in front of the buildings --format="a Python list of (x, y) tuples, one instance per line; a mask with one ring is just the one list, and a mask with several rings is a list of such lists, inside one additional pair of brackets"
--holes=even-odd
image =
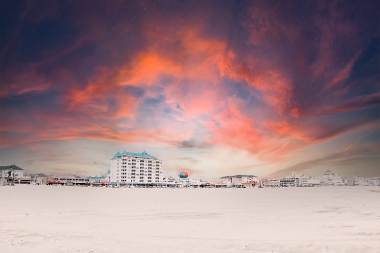
[(0, 194), (0, 252), (380, 252), (378, 187)]

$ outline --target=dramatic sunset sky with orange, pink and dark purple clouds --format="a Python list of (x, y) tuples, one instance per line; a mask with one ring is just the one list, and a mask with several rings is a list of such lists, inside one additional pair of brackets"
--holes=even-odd
[(380, 176), (378, 1), (2, 1), (0, 159)]

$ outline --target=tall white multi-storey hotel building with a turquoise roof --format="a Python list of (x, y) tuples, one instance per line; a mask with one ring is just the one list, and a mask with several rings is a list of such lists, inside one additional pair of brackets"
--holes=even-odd
[(111, 184), (161, 184), (164, 182), (162, 161), (145, 151), (116, 153), (111, 158)]

